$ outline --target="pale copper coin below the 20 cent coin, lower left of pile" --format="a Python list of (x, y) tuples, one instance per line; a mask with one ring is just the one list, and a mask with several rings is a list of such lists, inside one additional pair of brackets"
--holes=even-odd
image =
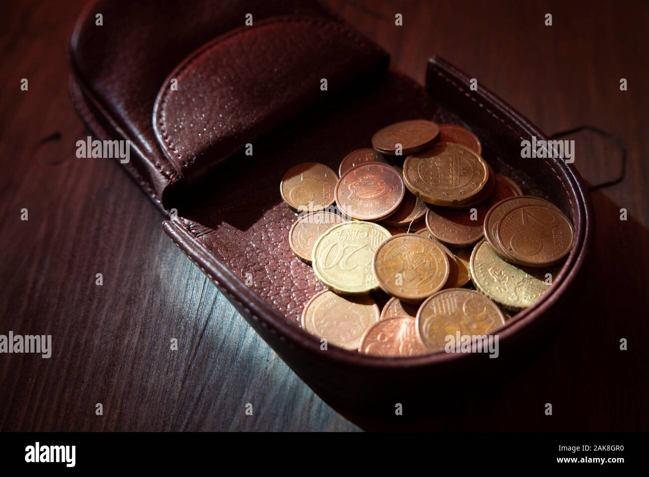
[(332, 345), (357, 350), (361, 337), (379, 317), (378, 306), (369, 297), (341, 297), (323, 290), (304, 306), (302, 328)]

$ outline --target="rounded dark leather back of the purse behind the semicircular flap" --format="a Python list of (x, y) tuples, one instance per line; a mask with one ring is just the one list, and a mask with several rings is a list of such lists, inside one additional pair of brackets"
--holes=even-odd
[[(151, 112), (167, 75), (186, 56), (217, 36), (271, 16), (300, 15), (332, 19), (310, 0), (91, 1), (72, 34), (69, 58), (88, 109), (102, 116), (114, 138), (131, 141), (134, 166), (154, 190), (155, 200), (178, 170), (167, 160), (153, 134)], [(103, 26), (95, 16), (103, 15)]]

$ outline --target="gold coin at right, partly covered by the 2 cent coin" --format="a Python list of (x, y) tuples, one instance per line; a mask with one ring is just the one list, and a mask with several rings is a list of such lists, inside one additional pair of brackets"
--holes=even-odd
[(473, 249), (470, 266), (474, 286), (510, 310), (532, 306), (549, 288), (545, 269), (523, 269), (505, 262), (484, 239)]

